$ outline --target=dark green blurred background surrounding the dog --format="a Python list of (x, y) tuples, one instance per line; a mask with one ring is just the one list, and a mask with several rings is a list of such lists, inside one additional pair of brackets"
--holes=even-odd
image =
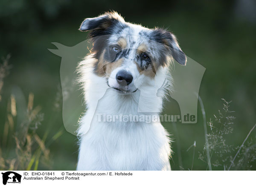
[[(44, 120), (37, 130), (39, 137), (43, 137), (49, 128), (49, 136), (64, 128), (61, 111), (52, 111), (60, 84), (61, 58), (49, 52), (48, 48), (55, 48), (52, 42), (74, 46), (84, 41), (87, 34), (78, 30), (84, 18), (96, 17), (109, 10), (117, 11), (126, 21), (132, 23), (141, 23), (149, 28), (168, 28), (177, 36), (183, 52), (206, 68), (199, 95), (204, 102), (207, 121), (221, 110), (221, 98), (232, 100), (230, 108), (236, 111), (233, 113), (236, 119), (233, 133), (227, 136), (226, 141), (233, 147), (241, 145), (256, 123), (254, 0), (2, 0), (0, 56), (11, 54), (9, 63), (12, 69), (4, 78), (1, 91), (0, 140), (3, 137), (1, 131), (7, 119), (6, 108), (11, 94), (19, 95), (16, 96), (19, 111), (19, 105), (26, 105), (29, 93), (34, 93), (34, 105), (40, 105), (41, 112), (44, 113)], [(179, 113), (179, 110), (174, 108), (178, 108), (177, 102), (171, 100), (163, 113)], [(18, 121), (16, 125), (19, 125)], [(206, 170), (207, 164), (198, 160), (198, 151), (203, 150), (205, 142), (199, 104), (197, 124), (177, 123), (177, 131), (171, 123), (163, 125), (173, 134), (172, 169), (181, 169), (177, 157), (179, 139), (183, 169), (191, 169), (193, 150), (186, 150), (196, 141), (193, 170)], [(17, 128), (18, 126), (16, 130)], [(250, 135), (254, 143), (255, 135), (256, 131)], [(39, 163), (38, 169), (76, 169), (76, 143), (76, 136), (65, 131), (49, 146), (51, 167)], [(15, 151), (12, 150), (15, 143), (1, 147), (3, 157), (15, 157)], [(232, 155), (235, 153), (236, 151)], [(223, 167), (212, 169), (222, 170)], [(256, 170), (255, 163), (251, 169)]]

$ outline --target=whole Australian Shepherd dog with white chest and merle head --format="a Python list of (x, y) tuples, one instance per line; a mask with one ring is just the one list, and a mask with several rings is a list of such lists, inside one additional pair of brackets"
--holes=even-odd
[(173, 59), (186, 64), (175, 35), (125, 22), (116, 12), (87, 18), (79, 30), (89, 32), (93, 45), (77, 68), (87, 104), (79, 122), (77, 170), (171, 170), (169, 134), (160, 121), (106, 122), (102, 116), (161, 112), (166, 90), (159, 88), (166, 79), (172, 82), (169, 65)]

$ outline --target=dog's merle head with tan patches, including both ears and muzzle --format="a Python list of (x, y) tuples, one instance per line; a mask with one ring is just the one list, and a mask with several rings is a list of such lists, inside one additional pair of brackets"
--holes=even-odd
[(157, 70), (168, 68), (172, 58), (186, 64), (186, 55), (172, 33), (127, 23), (116, 12), (87, 18), (80, 30), (90, 31), (94, 73), (105, 77), (108, 86), (120, 94), (150, 84)]

